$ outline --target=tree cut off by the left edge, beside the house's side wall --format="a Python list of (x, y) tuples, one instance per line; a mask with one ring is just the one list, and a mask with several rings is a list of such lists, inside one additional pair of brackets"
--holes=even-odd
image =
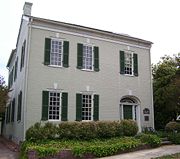
[(9, 89), (5, 85), (4, 78), (0, 75), (0, 115), (5, 112), (6, 103), (8, 101)]

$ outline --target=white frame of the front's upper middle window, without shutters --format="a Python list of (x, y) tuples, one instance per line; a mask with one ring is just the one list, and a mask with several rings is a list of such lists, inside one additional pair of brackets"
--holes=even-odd
[[(91, 61), (92, 68), (91, 69), (87, 68), (86, 61), (85, 61), (85, 65), (84, 65), (84, 46), (92, 48), (92, 50), (91, 50), (92, 51), (92, 61)], [(86, 52), (86, 54), (87, 54), (87, 52)], [(82, 70), (85, 70), (85, 71), (94, 71), (94, 45), (92, 45), (92, 44), (85, 44), (85, 43), (83, 44), (83, 61), (82, 62), (83, 62)]]

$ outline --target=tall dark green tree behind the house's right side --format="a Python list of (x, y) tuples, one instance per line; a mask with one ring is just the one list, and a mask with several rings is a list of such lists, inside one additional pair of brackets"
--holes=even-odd
[(180, 114), (180, 54), (153, 66), (155, 128), (164, 129)]

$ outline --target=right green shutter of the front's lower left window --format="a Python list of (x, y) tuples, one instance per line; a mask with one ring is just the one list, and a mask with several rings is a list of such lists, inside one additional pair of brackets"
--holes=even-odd
[(61, 121), (67, 121), (68, 114), (68, 93), (62, 93)]

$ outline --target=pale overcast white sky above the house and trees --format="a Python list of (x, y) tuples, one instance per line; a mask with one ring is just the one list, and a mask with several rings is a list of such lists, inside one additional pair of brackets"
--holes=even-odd
[[(180, 52), (180, 0), (27, 0), (32, 16), (124, 33), (153, 42), (152, 63)], [(0, 75), (16, 46), (25, 0), (0, 0)]]

